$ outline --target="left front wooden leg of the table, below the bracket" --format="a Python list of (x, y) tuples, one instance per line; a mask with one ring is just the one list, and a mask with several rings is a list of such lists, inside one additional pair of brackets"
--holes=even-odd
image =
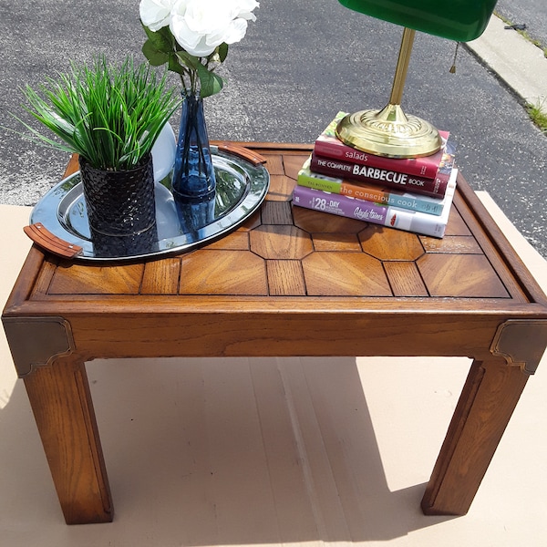
[(71, 354), (36, 366), (25, 386), (67, 524), (112, 521), (83, 359)]

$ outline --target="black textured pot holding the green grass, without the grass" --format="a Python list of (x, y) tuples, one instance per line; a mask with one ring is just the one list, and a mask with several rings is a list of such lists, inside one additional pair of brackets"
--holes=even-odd
[(156, 238), (152, 157), (132, 170), (110, 171), (79, 159), (89, 231), (98, 256), (150, 252)]

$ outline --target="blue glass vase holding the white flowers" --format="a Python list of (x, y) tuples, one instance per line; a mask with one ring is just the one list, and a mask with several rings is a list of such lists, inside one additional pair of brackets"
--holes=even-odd
[(175, 155), (171, 191), (176, 203), (214, 199), (216, 181), (203, 113), (203, 99), (182, 93), (181, 126)]

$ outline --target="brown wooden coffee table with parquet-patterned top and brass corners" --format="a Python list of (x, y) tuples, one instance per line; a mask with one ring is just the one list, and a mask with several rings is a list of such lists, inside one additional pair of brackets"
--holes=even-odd
[(221, 240), (146, 263), (26, 259), (3, 322), (67, 523), (113, 516), (96, 357), (471, 357), (422, 501), (465, 514), (547, 346), (545, 295), (461, 176), (439, 240), (293, 207), (311, 147), (240, 144), (272, 184)]

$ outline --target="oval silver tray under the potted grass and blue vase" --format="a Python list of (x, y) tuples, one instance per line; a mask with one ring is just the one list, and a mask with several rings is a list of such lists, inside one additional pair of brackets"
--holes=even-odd
[[(82, 247), (78, 260), (136, 260), (168, 253), (188, 252), (231, 232), (253, 212), (270, 184), (263, 165), (253, 165), (240, 156), (212, 146), (212, 163), (216, 177), (214, 201), (177, 206), (170, 190), (156, 181), (156, 226), (147, 241), (118, 244), (91, 240), (86, 201), (79, 171), (60, 181), (36, 204), (30, 222), (41, 223), (53, 235)], [(105, 252), (105, 248), (107, 251)]]

